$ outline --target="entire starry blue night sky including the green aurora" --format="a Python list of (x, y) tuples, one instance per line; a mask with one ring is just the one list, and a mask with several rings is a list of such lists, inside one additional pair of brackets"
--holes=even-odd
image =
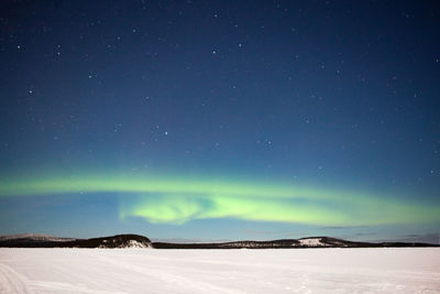
[(440, 242), (436, 1), (2, 1), (0, 235)]

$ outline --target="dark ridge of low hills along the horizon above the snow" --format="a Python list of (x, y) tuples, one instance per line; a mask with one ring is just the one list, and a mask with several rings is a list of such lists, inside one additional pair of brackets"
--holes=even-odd
[(353, 242), (330, 237), (308, 237), (273, 241), (233, 241), (222, 243), (152, 242), (140, 235), (117, 235), (91, 239), (56, 238), (38, 235), (0, 237), (0, 247), (20, 248), (155, 248), (155, 249), (268, 249), (268, 248), (383, 248), (383, 247), (439, 247), (428, 243)]

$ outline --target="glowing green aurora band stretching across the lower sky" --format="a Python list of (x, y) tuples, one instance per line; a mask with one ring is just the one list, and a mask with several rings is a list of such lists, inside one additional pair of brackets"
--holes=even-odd
[(323, 226), (426, 224), (440, 220), (437, 203), (419, 204), (350, 190), (194, 178), (119, 176), (1, 181), (0, 197), (108, 193), (120, 197), (120, 217), (182, 225), (232, 218)]

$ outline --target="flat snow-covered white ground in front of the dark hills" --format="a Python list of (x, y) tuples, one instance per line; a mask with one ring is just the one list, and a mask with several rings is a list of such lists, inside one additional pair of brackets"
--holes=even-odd
[(440, 249), (0, 249), (0, 293), (440, 293)]

